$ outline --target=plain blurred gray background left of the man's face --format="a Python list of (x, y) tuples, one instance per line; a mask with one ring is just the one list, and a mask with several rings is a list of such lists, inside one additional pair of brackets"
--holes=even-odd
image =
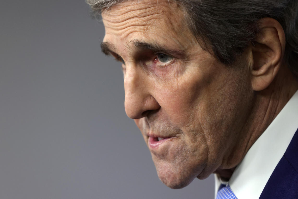
[(83, 0), (1, 1), (0, 199), (213, 198), (163, 185)]

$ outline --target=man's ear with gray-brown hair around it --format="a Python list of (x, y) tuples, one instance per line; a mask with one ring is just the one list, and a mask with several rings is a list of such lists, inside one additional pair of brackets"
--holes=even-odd
[(259, 20), (260, 32), (251, 45), (252, 59), (250, 68), (252, 88), (255, 91), (266, 89), (283, 62), (285, 52), (285, 32), (273, 18)]

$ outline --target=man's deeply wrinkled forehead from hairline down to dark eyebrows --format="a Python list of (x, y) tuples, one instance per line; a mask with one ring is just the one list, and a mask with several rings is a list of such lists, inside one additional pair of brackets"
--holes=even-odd
[[(149, 6), (151, 10), (153, 8), (152, 13), (146, 12)], [(116, 12), (115, 10), (119, 10), (119, 12)], [(140, 40), (138, 46), (142, 46), (143, 49), (146, 48), (146, 45), (140, 45), (140, 42), (144, 41), (144, 44), (146, 42), (150, 43), (150, 49), (153, 52), (164, 51), (164, 49), (168, 47), (170, 49), (166, 49), (167, 51), (176, 50), (174, 54), (179, 54), (177, 53), (177, 50), (187, 52), (190, 44), (185, 46), (186, 39), (195, 41), (193, 36), (188, 34), (184, 21), (181, 21), (181, 18), (177, 18), (177, 15), (174, 15), (178, 11), (179, 13), (181, 12), (182, 16), (184, 16), (184, 11), (179, 7), (169, 7), (169, 3), (167, 1), (160, 1), (160, 4), (156, 4), (155, 2), (144, 3), (140, 6), (133, 6), (131, 3), (127, 3), (125, 6), (123, 6), (123, 4), (118, 4), (118, 6), (112, 6), (110, 11), (110, 13), (105, 11), (103, 14), (103, 22), (106, 27), (106, 36), (109, 35), (107, 38), (110, 38), (112, 41), (114, 41), (114, 38), (117, 38), (118, 43), (122, 43), (123, 41), (126, 42), (125, 45), (122, 44), (122, 47), (116, 45), (117, 43), (114, 43), (117, 47), (119, 47), (117, 50), (121, 49), (122, 52), (123, 46), (125, 46), (125, 50), (128, 50), (127, 48), (129, 48), (130, 50), (128, 51), (132, 52), (131, 48), (134, 46), (129, 43), (131, 43), (130, 41), (134, 38)], [(136, 13), (141, 14), (138, 15)], [(126, 18), (120, 14), (126, 15)], [(162, 31), (166, 31), (168, 28), (171, 29), (171, 31), (168, 31), (170, 34), (162, 34)], [(181, 40), (180, 38), (185, 39)], [(156, 43), (156, 40), (161, 40), (163, 45)], [(129, 41), (129, 43), (127, 41)], [(149, 46), (147, 45), (147, 47)], [(160, 50), (157, 50), (158, 48)]]

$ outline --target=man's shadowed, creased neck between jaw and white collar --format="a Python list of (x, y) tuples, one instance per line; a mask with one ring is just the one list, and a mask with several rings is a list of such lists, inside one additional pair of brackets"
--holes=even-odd
[(235, 145), (230, 148), (229, 155), (224, 158), (223, 164), (215, 173), (218, 173), (224, 180), (232, 176), (235, 167), (242, 161), (250, 147), (297, 90), (297, 78), (293, 76), (288, 67), (281, 67), (277, 76), (265, 90), (255, 92), (251, 114), (236, 139)]

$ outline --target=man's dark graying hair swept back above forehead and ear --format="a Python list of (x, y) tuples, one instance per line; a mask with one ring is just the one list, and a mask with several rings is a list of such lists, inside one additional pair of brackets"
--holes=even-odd
[[(86, 0), (93, 15), (126, 0)], [(271, 17), (285, 31), (285, 60), (298, 77), (298, 1), (297, 0), (174, 0), (182, 5), (189, 29), (203, 49), (224, 64), (232, 64), (254, 41), (257, 21)]]

